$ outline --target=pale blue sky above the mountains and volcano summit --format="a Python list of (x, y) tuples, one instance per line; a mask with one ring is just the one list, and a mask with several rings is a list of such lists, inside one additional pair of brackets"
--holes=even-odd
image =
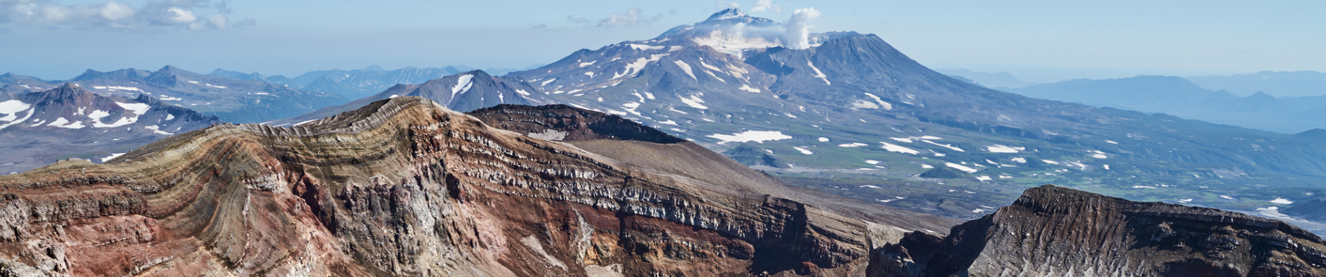
[(931, 68), (1030, 82), (1326, 72), (1318, 0), (0, 0), (0, 72), (518, 69), (647, 40), (727, 7), (776, 21), (814, 8), (822, 16), (812, 32), (875, 33)]

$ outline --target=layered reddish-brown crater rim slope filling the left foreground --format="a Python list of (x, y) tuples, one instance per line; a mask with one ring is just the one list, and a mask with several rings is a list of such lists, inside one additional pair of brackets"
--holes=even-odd
[(691, 143), (516, 130), (399, 97), (0, 176), (0, 276), (861, 276), (952, 224)]

